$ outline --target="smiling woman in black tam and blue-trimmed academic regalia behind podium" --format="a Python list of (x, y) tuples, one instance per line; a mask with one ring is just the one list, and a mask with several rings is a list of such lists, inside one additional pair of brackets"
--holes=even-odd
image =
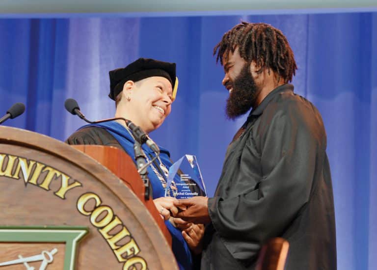
[[(159, 128), (171, 112), (171, 104), (177, 93), (175, 63), (139, 58), (125, 68), (112, 70), (109, 97), (116, 103), (115, 117), (131, 120), (147, 134)], [(134, 160), (135, 138), (124, 121), (111, 121), (81, 127), (67, 141), (68, 144), (100, 144), (123, 149)], [(146, 161), (155, 153), (143, 145)], [(156, 164), (148, 167), (153, 189), (153, 201), (172, 236), (172, 250), (180, 269), (193, 269), (193, 257), (200, 253), (203, 225), (187, 223), (171, 214), (178, 209), (173, 201), (179, 199), (181, 179), (175, 176), (165, 196), (168, 168), (172, 165), (170, 154), (160, 147)], [(177, 185), (178, 184), (178, 185)]]

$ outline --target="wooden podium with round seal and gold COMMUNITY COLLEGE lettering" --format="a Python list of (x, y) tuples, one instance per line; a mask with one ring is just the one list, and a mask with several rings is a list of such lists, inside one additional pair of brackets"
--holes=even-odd
[(0, 127), (0, 190), (0, 270), (178, 269), (119, 149)]

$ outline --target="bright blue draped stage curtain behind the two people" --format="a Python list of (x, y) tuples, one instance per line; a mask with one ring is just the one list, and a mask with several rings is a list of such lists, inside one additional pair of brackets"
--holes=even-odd
[[(0, 113), (6, 125), (64, 140), (90, 119), (111, 117), (108, 71), (138, 57), (177, 63), (172, 113), (151, 136), (177, 160), (196, 154), (209, 194), (226, 147), (245, 117), (228, 121), (228, 92), (212, 50), (241, 20), (286, 34), (298, 64), (296, 93), (323, 115), (334, 185), (338, 269), (377, 269), (377, 13), (160, 18), (0, 19)], [(252, 213), (251, 213), (252, 215)]]

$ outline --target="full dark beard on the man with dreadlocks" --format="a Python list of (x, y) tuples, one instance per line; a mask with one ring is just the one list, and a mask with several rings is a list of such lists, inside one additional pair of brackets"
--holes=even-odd
[(254, 104), (259, 89), (250, 73), (250, 64), (245, 63), (240, 74), (232, 83), (232, 92), (226, 101), (225, 112), (229, 119), (245, 114)]

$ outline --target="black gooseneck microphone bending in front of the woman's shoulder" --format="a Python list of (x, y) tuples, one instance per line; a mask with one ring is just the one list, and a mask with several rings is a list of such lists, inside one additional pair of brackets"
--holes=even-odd
[(123, 117), (114, 117), (114, 118), (108, 118), (103, 119), (99, 121), (89, 121), (85, 118), (85, 115), (81, 112), (79, 104), (74, 99), (67, 99), (64, 102), (64, 107), (66, 110), (68, 110), (73, 115), (78, 115), (82, 120), (89, 124), (99, 124), (103, 122), (113, 121), (113, 120), (123, 120), (126, 123), (126, 126), (131, 130), (132, 135), (134, 135), (135, 140), (137, 140), (140, 144), (147, 144), (149, 148), (152, 149), (152, 151), (156, 153), (160, 153), (160, 149), (157, 146), (157, 144), (147, 136), (147, 134), (138, 126), (136, 126), (133, 122), (130, 120), (123, 118)]

